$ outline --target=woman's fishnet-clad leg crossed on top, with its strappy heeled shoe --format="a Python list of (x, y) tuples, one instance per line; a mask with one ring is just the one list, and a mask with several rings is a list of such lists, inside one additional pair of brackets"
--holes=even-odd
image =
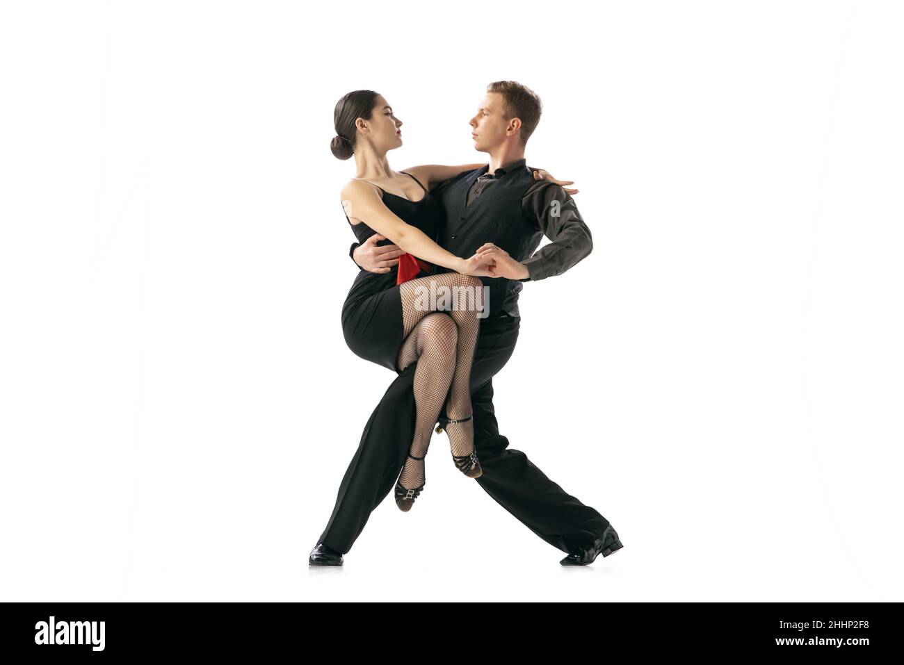
[[(425, 290), (436, 293), (439, 286), (446, 286), (449, 298), (446, 301), (425, 297)], [(457, 420), (472, 415), (470, 376), (471, 362), (477, 343), (480, 318), (476, 304), (483, 304), (483, 282), (478, 277), (460, 273), (444, 273), (437, 276), (419, 277), (405, 282), (399, 287), (402, 304), (402, 319), (407, 335), (419, 321), (431, 311), (447, 311), (458, 328), (455, 374), (446, 407), (447, 417)], [(442, 309), (430, 309), (442, 302)], [(436, 422), (436, 421), (434, 421)], [(474, 421), (452, 423), (447, 427), (452, 454), (460, 459), (456, 464), (466, 474), (476, 473), (478, 464), (474, 454)], [(470, 455), (467, 459), (461, 459)], [(476, 475), (471, 477), (476, 477)]]

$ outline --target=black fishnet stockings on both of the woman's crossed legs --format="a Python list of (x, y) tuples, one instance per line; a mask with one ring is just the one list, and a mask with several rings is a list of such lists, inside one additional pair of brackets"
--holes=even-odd
[[(447, 289), (446, 294), (442, 292), (442, 287)], [(429, 353), (427, 362), (424, 362), (422, 356), (419, 358), (418, 368), (415, 370), (414, 396), (418, 416), (410, 450), (411, 455), (423, 457), (427, 454), (430, 429), (437, 422), (439, 407), (442, 406), (442, 399), (446, 395), (448, 395), (447, 417), (457, 419), (472, 415), (471, 363), (474, 360), (480, 326), (476, 304), (483, 304), (483, 282), (475, 276), (445, 273), (412, 279), (402, 284), (399, 290), (402, 324), (407, 338), (400, 350), (400, 368), (404, 369), (414, 360), (419, 347)], [(432, 302), (431, 291), (435, 294)], [(447, 297), (444, 298), (444, 295)], [(433, 315), (437, 312), (447, 314)], [(432, 321), (411, 339), (410, 333), (428, 319)], [(452, 323), (455, 323), (457, 332), (454, 337), (449, 333), (446, 319), (451, 319)], [(444, 355), (445, 361), (441, 361)], [(423, 371), (421, 365), (424, 366)], [(447, 379), (449, 367), (454, 370), (451, 379)], [(452, 454), (456, 456), (473, 454), (474, 421), (466, 420), (450, 425), (451, 430), (447, 429), (447, 435)], [(466, 469), (470, 468), (470, 464), (467, 463)], [(422, 484), (424, 461), (406, 458), (400, 482), (406, 489), (413, 489)]]

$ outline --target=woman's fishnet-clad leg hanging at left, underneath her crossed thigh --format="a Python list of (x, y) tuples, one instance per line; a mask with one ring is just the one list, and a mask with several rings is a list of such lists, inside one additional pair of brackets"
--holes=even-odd
[[(424, 460), (430, 445), (433, 426), (448, 394), (455, 373), (458, 326), (448, 314), (428, 314), (414, 326), (399, 351), (399, 370), (404, 371), (418, 361), (414, 370), (414, 402), (417, 409), (414, 438), (409, 457), (399, 478), (406, 490), (416, 490), (425, 481)], [(411, 492), (408, 492), (411, 495)], [(411, 497), (413, 499), (413, 497)], [(410, 501), (399, 506), (410, 509)]]

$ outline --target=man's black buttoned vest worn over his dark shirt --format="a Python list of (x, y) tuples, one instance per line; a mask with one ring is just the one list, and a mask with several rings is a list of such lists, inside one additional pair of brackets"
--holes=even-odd
[[(471, 258), (487, 242), (503, 248), (517, 261), (533, 255), (543, 237), (536, 220), (522, 211), (521, 200), (532, 184), (537, 183), (527, 166), (513, 169), (499, 176), (492, 187), (482, 192), (471, 205), (467, 192), (489, 166), (460, 173), (452, 181), (438, 188), (437, 196), (446, 212), (446, 224), (439, 244), (461, 258)], [(449, 272), (438, 267), (438, 272)], [(506, 277), (481, 277), (489, 286), (488, 316), (507, 313), (519, 316), (518, 295), (523, 284)]]

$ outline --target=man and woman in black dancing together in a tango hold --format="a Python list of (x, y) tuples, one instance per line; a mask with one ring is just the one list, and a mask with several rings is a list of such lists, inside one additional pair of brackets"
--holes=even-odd
[[(331, 147), (355, 160), (342, 204), (361, 267), (343, 305), (345, 342), (397, 377), (364, 427), (311, 566), (343, 565), (393, 483), (400, 510), (411, 509), (437, 423), (457, 468), (566, 552), (562, 565), (622, 547), (608, 520), (508, 447), (494, 416), (492, 379), (514, 351), (523, 282), (560, 275), (592, 249), (577, 190), (526, 165), (540, 116), (531, 89), (496, 81), (469, 123), (489, 164), (395, 172), (387, 153), (402, 145), (402, 123), (387, 100), (355, 90), (336, 104)], [(551, 242), (536, 251), (543, 235)]]

